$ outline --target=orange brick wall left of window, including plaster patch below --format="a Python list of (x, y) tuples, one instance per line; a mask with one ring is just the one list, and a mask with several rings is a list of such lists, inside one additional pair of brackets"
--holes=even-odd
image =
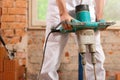
[(0, 7), (1, 35), (10, 50), (17, 50), (16, 57), (22, 65), (27, 52), (27, 0), (0, 0)]

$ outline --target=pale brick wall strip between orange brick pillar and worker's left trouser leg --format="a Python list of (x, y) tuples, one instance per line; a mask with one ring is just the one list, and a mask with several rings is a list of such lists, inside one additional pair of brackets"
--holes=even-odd
[(37, 78), (43, 56), (44, 33), (44, 30), (28, 31), (28, 80)]

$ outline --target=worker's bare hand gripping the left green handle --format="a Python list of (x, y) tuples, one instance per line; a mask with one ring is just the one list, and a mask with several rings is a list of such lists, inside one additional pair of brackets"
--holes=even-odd
[[(72, 20), (73, 18), (72, 18), (68, 13), (66, 13), (66, 14), (60, 15), (60, 19), (61, 19), (61, 21), (71, 22), (71, 20)], [(63, 26), (63, 28), (66, 29), (66, 30), (71, 30), (71, 29), (72, 29), (72, 26), (71, 26), (71, 25), (68, 25), (67, 23), (63, 23), (62, 26)]]

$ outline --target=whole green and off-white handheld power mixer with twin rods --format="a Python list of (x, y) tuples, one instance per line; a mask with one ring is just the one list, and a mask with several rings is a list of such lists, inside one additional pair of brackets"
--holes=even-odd
[[(77, 42), (78, 42), (78, 51), (79, 51), (78, 80), (87, 80), (86, 68), (85, 68), (86, 65), (85, 54), (87, 51), (91, 53), (91, 62), (94, 67), (95, 80), (97, 80), (96, 70), (95, 70), (96, 59), (94, 55), (94, 53), (96, 52), (95, 31), (99, 29), (105, 29), (106, 27), (113, 25), (115, 23), (105, 22), (105, 20), (92, 22), (88, 5), (78, 5), (76, 6), (76, 18), (73, 19), (71, 22), (64, 22), (64, 24), (71, 25), (72, 29), (65, 30), (63, 27), (60, 27), (59, 29), (57, 28), (52, 29), (52, 32), (60, 32), (60, 33), (74, 32), (76, 34)], [(58, 24), (58, 26), (60, 25)]]

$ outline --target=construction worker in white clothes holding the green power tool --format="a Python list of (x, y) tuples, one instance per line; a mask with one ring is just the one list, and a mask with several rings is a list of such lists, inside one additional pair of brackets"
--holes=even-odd
[[(51, 27), (56, 26), (61, 21), (71, 21), (75, 17), (75, 7), (80, 4), (88, 4), (91, 21), (103, 19), (104, 0), (49, 0), (47, 12), (46, 36), (51, 31)], [(64, 29), (71, 29), (70, 25), (63, 24)], [(69, 34), (52, 33), (48, 39), (45, 58), (41, 70), (42, 80), (59, 80), (57, 70), (60, 66), (61, 55), (68, 40)], [(98, 80), (105, 80), (105, 70), (103, 63), (104, 52), (100, 44), (100, 32), (95, 32), (96, 40), (96, 72)], [(86, 54), (86, 76), (87, 80), (94, 80), (93, 65), (90, 62), (90, 54)]]

